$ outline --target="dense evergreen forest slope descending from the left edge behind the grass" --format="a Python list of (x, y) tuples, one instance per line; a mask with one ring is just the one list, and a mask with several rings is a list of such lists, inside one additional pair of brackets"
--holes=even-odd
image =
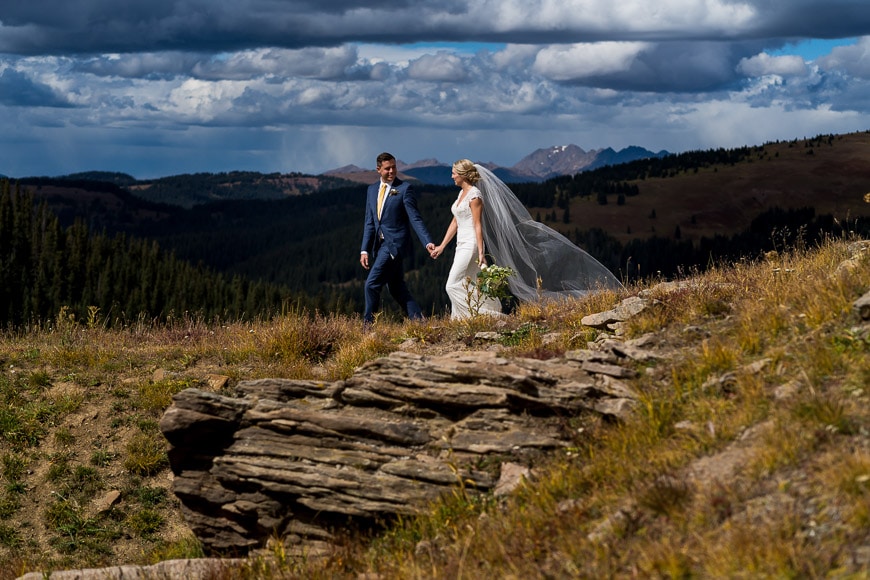
[(45, 204), (0, 182), (0, 324), (68, 312), (94, 324), (197, 315), (237, 320), (279, 311), (291, 293), (266, 281), (193, 266), (157, 242), (61, 227)]

